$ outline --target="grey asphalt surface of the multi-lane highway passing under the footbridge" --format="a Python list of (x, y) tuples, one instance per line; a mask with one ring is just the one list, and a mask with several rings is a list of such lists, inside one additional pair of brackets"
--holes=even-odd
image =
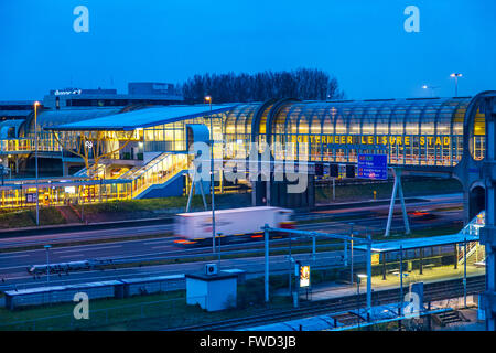
[[(446, 224), (453, 224), (453, 222), (460, 222), (462, 220), (462, 212), (456, 210), (442, 208), (453, 208), (461, 206), (461, 195), (441, 195), (441, 196), (429, 196), (422, 197), (425, 201), (419, 203), (407, 204), (407, 210), (409, 213), (414, 211), (427, 212), (434, 217), (424, 216), (410, 216), (412, 228), (422, 228), (425, 226), (440, 226)], [(399, 205), (398, 205), (399, 208)], [(441, 210), (440, 210), (441, 208)], [(388, 205), (384, 206), (369, 206), (369, 207), (344, 207), (333, 211), (321, 211), (319, 213), (313, 213), (310, 216), (321, 217), (322, 222), (311, 223), (311, 224), (300, 224), (299, 229), (308, 231), (321, 231), (326, 233), (347, 233), (349, 232), (349, 223), (354, 223), (354, 229), (358, 232), (376, 231), (382, 232), (386, 226), (388, 213)], [(330, 218), (344, 217), (346, 221), (330, 221)], [(422, 218), (423, 217), (423, 218)], [(42, 236), (30, 236), (30, 237), (17, 237), (0, 239), (0, 247), (12, 247), (19, 245), (33, 245), (33, 244), (53, 244), (55, 242), (67, 240), (87, 240), (105, 237), (129, 237), (137, 235), (150, 235), (150, 234), (166, 234), (172, 232), (171, 224), (164, 225), (151, 225), (142, 226), (137, 228), (115, 228), (115, 229), (104, 229), (104, 231), (90, 231), (90, 232), (78, 232), (72, 234), (55, 234), (55, 235), (42, 235)], [(393, 229), (402, 229), (402, 216), (400, 214), (395, 215), (392, 222)], [(174, 240), (177, 237), (164, 236), (159, 238), (150, 239), (134, 239), (125, 240), (116, 239), (111, 243), (106, 244), (93, 244), (93, 245), (74, 245), (66, 247), (56, 247), (50, 250), (50, 263), (67, 263), (84, 259), (150, 259), (160, 257), (181, 257), (187, 254), (212, 254), (212, 247), (194, 247), (185, 248), (180, 246)], [(278, 242), (278, 240), (276, 240)], [(285, 242), (285, 240), (280, 240)], [(231, 244), (223, 245), (222, 250), (233, 250), (239, 248), (249, 248), (258, 246), (255, 242), (248, 244)], [(309, 255), (302, 255), (309, 256)], [(341, 252), (326, 253), (319, 256), (332, 257), (333, 259), (326, 259), (325, 261), (334, 261), (336, 259), (341, 260)], [(359, 255), (357, 255), (359, 256)], [(324, 260), (324, 259), (321, 259)], [(271, 264), (278, 266), (278, 261), (285, 264), (288, 266), (288, 259), (283, 256), (271, 257)], [(241, 269), (254, 269), (262, 264), (262, 258), (244, 258), (244, 259), (229, 259), (222, 260), (223, 268), (241, 268)], [(330, 263), (330, 264), (331, 264)], [(45, 249), (34, 249), (34, 250), (21, 250), (13, 253), (0, 254), (0, 290), (10, 289), (14, 286), (18, 288), (24, 287), (35, 287), (41, 286), (46, 282), (45, 276), (40, 279), (33, 279), (33, 276), (29, 275), (26, 267), (30, 265), (41, 265), (46, 264), (46, 250)], [(159, 265), (159, 266), (148, 266), (148, 267), (136, 267), (136, 268), (125, 268), (125, 269), (110, 269), (110, 270), (90, 270), (90, 271), (74, 271), (69, 275), (52, 275), (51, 282), (82, 282), (82, 281), (94, 281), (114, 278), (126, 278), (126, 277), (140, 277), (149, 275), (165, 275), (165, 274), (184, 274), (188, 271), (197, 271), (203, 268), (203, 263), (192, 263), (192, 264), (175, 264), (175, 265)], [(254, 267), (255, 266), (255, 267)], [(260, 266), (262, 267), (262, 266)]]

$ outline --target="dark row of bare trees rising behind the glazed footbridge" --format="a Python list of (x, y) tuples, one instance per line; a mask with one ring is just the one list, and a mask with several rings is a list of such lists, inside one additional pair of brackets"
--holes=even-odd
[(265, 101), (270, 98), (302, 100), (341, 99), (337, 79), (320, 69), (299, 68), (291, 72), (195, 75), (182, 85), (186, 103), (203, 103), (212, 96), (214, 104)]

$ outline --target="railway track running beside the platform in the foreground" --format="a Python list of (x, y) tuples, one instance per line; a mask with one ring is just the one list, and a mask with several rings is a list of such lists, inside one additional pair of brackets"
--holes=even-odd
[[(474, 276), (467, 278), (467, 295), (481, 292), (485, 289), (485, 276)], [(403, 288), (406, 293), (408, 289)], [(400, 289), (388, 289), (373, 292), (373, 306), (388, 304), (399, 301)], [(451, 299), (463, 296), (462, 279), (452, 279), (425, 284), (424, 302)], [(214, 331), (235, 330), (239, 328), (250, 328), (261, 324), (289, 321), (320, 314), (343, 313), (345, 311), (365, 307), (366, 296), (347, 296), (332, 300), (320, 301), (319, 303), (304, 302), (299, 309), (269, 310), (263, 314), (228, 319), (217, 322), (202, 323), (188, 327), (174, 328), (174, 331)]]

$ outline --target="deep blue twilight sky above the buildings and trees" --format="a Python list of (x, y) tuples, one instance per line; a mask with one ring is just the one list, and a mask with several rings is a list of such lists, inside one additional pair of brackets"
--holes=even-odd
[[(73, 9), (89, 9), (75, 33)], [(420, 33), (403, 10), (420, 9)], [(195, 73), (316, 67), (347, 98), (496, 89), (494, 0), (0, 0), (0, 100)]]

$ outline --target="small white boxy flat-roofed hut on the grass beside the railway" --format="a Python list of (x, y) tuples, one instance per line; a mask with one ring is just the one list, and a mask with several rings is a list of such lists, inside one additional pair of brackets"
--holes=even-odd
[(207, 311), (217, 311), (236, 307), (237, 274), (185, 275), (186, 303), (200, 304)]

